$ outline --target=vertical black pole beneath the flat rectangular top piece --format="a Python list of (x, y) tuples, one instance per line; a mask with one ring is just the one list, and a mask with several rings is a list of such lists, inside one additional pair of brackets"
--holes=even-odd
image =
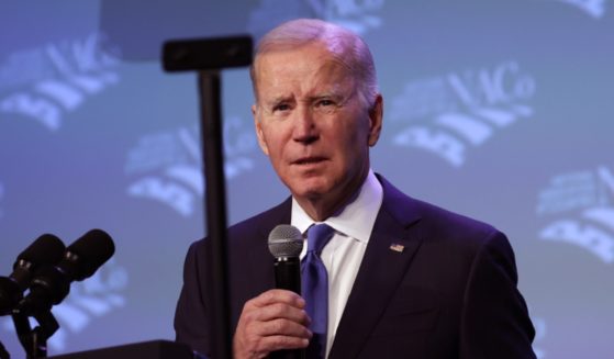
[[(206, 258), (210, 276), (208, 308), (211, 315), (211, 344), (214, 359), (232, 358), (232, 334), (230, 332), (227, 248), (226, 248), (226, 189), (224, 176), (224, 141), (220, 70), (199, 71), (201, 103), (201, 138), (204, 166), (208, 240), (211, 240), (211, 258)], [(206, 99), (206, 100), (205, 100)], [(211, 324), (210, 323), (210, 324)]]

